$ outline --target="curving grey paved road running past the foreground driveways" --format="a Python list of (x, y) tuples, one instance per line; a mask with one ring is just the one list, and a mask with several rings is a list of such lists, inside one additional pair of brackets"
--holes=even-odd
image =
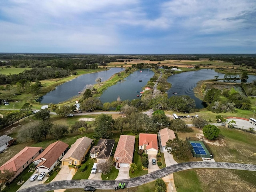
[[(135, 187), (140, 186), (142, 184), (146, 184), (156, 180), (157, 178), (162, 178), (168, 176), (169, 174), (173, 174), (178, 171), (188, 170), (188, 169), (196, 169), (196, 168), (219, 168), (219, 169), (235, 169), (235, 170), (249, 170), (256, 171), (256, 165), (252, 164), (239, 164), (239, 163), (226, 163), (226, 162), (185, 162), (180, 164), (174, 164), (172, 166), (168, 166), (166, 168), (157, 170), (155, 172), (137, 177), (130, 178), (126, 180), (122, 180), (125, 182), (126, 186)], [(30, 188), (26, 188), (24, 190), (20, 190), (20, 192), (45, 192), (62, 188), (84, 188), (84, 186), (94, 186), (96, 189), (112, 189), (113, 186), (117, 186), (120, 181), (100, 181), (100, 180), (64, 180), (51, 182), (48, 184), (40, 184), (37, 186), (33, 186)]]

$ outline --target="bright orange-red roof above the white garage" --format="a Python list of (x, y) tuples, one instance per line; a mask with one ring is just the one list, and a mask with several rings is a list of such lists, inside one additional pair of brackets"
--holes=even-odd
[(158, 150), (157, 134), (140, 133), (139, 146), (146, 145), (146, 150), (154, 148)]

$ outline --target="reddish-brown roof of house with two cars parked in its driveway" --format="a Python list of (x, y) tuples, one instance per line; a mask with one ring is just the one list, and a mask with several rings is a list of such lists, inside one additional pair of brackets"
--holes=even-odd
[(56, 141), (50, 144), (41, 154), (37, 156), (33, 161), (41, 159), (42, 162), (38, 164), (38, 166), (44, 166), (46, 168), (51, 168), (53, 164), (57, 161), (57, 159), (61, 156), (61, 154), (68, 148), (68, 144), (62, 141)]

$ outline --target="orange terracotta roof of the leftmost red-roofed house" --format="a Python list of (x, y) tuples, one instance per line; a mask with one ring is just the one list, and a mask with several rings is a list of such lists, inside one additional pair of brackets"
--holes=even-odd
[(0, 170), (19, 170), (27, 161), (38, 153), (42, 147), (25, 147), (18, 154), (0, 167)]

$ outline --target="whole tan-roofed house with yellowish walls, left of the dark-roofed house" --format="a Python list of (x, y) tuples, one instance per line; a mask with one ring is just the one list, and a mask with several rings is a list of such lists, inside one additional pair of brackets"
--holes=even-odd
[(60, 160), (62, 165), (80, 165), (90, 150), (91, 145), (92, 139), (88, 137), (82, 137), (76, 140), (76, 142), (71, 145), (68, 152)]

